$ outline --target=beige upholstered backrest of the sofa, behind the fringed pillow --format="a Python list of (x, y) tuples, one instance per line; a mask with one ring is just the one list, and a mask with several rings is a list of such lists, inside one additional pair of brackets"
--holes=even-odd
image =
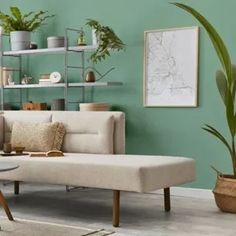
[(66, 128), (64, 152), (125, 153), (122, 112), (4, 111), (0, 114), (0, 145), (10, 141), (14, 121), (62, 122)]

